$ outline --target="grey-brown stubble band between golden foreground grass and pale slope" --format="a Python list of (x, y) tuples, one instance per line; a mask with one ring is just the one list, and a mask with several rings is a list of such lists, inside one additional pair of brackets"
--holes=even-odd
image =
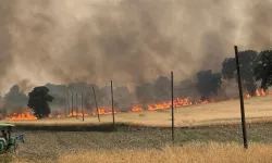
[[(67, 153), (72, 153), (73, 156), (78, 155), (81, 161), (81, 156), (84, 156), (79, 154), (82, 152), (84, 152), (85, 155), (89, 155), (89, 158), (86, 159), (90, 159), (96, 153), (100, 155), (100, 159), (102, 159), (106, 153), (111, 153), (110, 155), (112, 155), (112, 158), (121, 155), (121, 159), (124, 155), (137, 159), (134, 156), (143, 153), (147, 154), (146, 156), (143, 155), (143, 159), (145, 159), (148, 156), (148, 153), (154, 155), (153, 153), (160, 153), (165, 145), (171, 145), (171, 129), (160, 127), (120, 126), (118, 131), (113, 133), (21, 131), (25, 135), (26, 142), (20, 145), (18, 158), (34, 163), (53, 163), (57, 160), (60, 160), (60, 158), (64, 159), (67, 156)], [(270, 145), (272, 143), (271, 135), (271, 123), (250, 124), (250, 127), (248, 126), (248, 139), (252, 143), (249, 143), (249, 149), (252, 150), (251, 148), (255, 148), (255, 146), (264, 146), (264, 143), (270, 148)], [(228, 142), (234, 142), (236, 149), (242, 148), (243, 146), (240, 143), (243, 142), (243, 139), (240, 125), (175, 128), (176, 147), (174, 149), (180, 149), (178, 146), (185, 145), (185, 147), (190, 148), (196, 146), (194, 148), (195, 150), (201, 147), (202, 149), (200, 148), (199, 150), (203, 151), (207, 142), (214, 142), (215, 145), (223, 147), (228, 147)], [(181, 150), (183, 150), (182, 152), (189, 152), (187, 148), (181, 148)], [(138, 152), (138, 154), (133, 154), (134, 152)], [(109, 161), (107, 156), (104, 160)]]

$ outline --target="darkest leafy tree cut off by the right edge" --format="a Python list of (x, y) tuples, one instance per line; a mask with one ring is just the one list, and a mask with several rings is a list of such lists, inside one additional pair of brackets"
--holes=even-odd
[(261, 88), (272, 86), (272, 51), (261, 51), (254, 62), (254, 75), (256, 80), (261, 80)]

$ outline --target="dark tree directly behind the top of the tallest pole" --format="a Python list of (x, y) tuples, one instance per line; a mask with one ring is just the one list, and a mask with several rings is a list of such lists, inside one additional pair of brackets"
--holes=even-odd
[[(254, 76), (254, 61), (257, 59), (257, 51), (246, 50), (238, 53), (240, 64), (240, 78), (243, 87), (254, 96), (256, 93), (257, 85)], [(235, 58), (226, 58), (222, 63), (221, 74), (224, 79), (237, 79), (236, 60)]]

